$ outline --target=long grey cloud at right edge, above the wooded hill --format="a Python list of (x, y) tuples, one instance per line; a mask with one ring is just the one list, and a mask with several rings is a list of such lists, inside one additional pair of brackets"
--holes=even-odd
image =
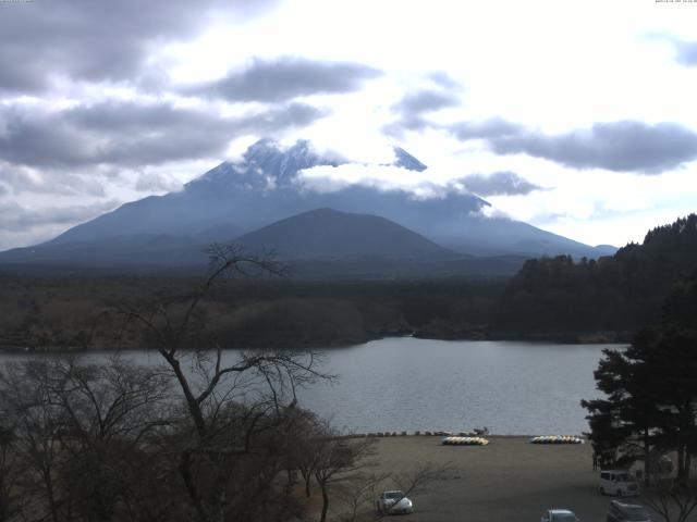
[(489, 140), (499, 154), (526, 153), (575, 169), (658, 174), (697, 158), (697, 134), (674, 123), (596, 123), (557, 136), (518, 133)]

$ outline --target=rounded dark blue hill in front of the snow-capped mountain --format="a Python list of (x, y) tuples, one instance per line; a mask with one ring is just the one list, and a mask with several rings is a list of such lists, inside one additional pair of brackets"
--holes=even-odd
[(311, 278), (503, 276), (525, 261), (454, 252), (384, 217), (332, 209), (281, 220), (234, 243), (250, 252), (272, 250), (295, 276)]

